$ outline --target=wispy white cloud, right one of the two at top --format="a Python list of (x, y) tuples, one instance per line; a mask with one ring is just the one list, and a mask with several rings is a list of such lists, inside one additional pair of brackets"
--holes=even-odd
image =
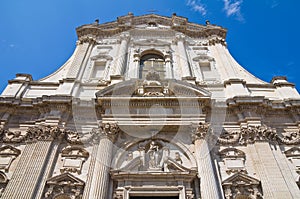
[(243, 0), (223, 0), (224, 10), (227, 17), (236, 16), (239, 21), (244, 21), (244, 17), (241, 13), (241, 5)]

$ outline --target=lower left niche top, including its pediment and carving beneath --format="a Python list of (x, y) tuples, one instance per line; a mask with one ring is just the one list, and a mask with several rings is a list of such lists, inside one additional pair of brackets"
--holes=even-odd
[(47, 180), (44, 198), (81, 199), (85, 183), (69, 173)]

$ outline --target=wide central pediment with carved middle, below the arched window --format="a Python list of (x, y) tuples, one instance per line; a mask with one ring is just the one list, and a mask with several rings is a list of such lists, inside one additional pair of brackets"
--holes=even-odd
[(210, 98), (211, 93), (184, 81), (128, 80), (104, 88), (96, 93), (101, 97), (196, 97)]

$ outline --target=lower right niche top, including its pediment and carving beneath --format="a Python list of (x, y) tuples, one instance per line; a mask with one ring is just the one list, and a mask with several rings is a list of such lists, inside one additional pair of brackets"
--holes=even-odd
[(226, 199), (262, 197), (260, 181), (243, 173), (236, 173), (222, 182)]

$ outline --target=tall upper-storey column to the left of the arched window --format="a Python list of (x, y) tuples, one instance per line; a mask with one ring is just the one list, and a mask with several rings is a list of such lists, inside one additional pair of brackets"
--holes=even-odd
[(115, 70), (114, 75), (122, 75), (123, 71), (125, 69), (125, 61), (126, 61), (126, 54), (127, 54), (127, 45), (129, 40), (128, 34), (122, 34), (120, 36), (121, 38), (121, 44), (119, 48), (118, 55), (115, 60)]

